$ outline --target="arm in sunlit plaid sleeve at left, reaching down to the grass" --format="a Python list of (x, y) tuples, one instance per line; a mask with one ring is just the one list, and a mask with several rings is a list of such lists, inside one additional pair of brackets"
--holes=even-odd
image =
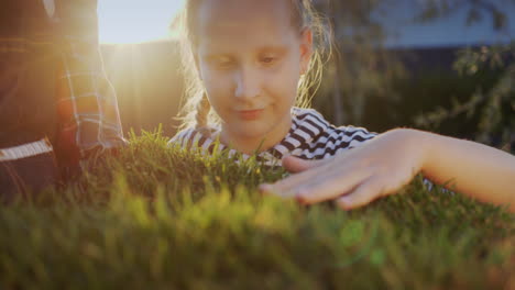
[(96, 0), (57, 2), (59, 140), (68, 164), (125, 144), (117, 96), (103, 70)]

